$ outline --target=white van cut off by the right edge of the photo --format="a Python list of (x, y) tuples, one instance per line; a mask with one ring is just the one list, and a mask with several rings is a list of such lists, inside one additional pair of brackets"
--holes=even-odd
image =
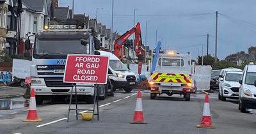
[(256, 65), (244, 67), (243, 79), (239, 83), (239, 110), (246, 112), (246, 108), (256, 109)]

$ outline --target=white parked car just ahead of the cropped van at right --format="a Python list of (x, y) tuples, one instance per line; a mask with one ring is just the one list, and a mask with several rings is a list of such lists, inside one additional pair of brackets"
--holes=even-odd
[(239, 80), (241, 80), (243, 71), (226, 71), (223, 78), (219, 92), (219, 100), (225, 101), (226, 98), (238, 98), (239, 93)]

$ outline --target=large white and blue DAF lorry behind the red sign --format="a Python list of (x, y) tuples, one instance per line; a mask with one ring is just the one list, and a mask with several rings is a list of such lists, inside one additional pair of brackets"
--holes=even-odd
[[(30, 40), (25, 42), (30, 49)], [(35, 89), (36, 103), (56, 97), (68, 97), (72, 84), (63, 83), (67, 54), (95, 54), (99, 40), (92, 29), (77, 29), (76, 25), (52, 25), (35, 34), (32, 47), (31, 89)], [(108, 83), (109, 84), (109, 83)], [(104, 100), (107, 85), (99, 86), (99, 100)], [(92, 84), (77, 84), (77, 94), (87, 103), (93, 103)], [(74, 91), (74, 90), (73, 90)], [(75, 93), (75, 91), (74, 91)]]

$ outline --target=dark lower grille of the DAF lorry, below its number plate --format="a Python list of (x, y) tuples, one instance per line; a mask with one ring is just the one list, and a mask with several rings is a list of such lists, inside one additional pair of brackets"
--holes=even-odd
[(72, 87), (70, 83), (63, 83), (63, 78), (44, 78), (47, 87)]

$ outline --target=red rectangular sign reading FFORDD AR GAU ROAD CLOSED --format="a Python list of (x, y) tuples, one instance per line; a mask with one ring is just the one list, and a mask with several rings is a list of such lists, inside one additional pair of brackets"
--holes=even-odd
[(63, 82), (106, 84), (108, 63), (108, 56), (68, 55)]

